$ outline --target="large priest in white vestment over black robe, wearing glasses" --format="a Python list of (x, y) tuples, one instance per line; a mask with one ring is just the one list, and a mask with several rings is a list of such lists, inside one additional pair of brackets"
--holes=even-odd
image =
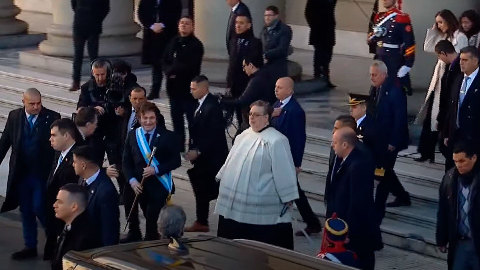
[(268, 103), (251, 105), (246, 129), (235, 139), (216, 178), (217, 235), (293, 249), (292, 203), (299, 198), (288, 139), (269, 125)]

